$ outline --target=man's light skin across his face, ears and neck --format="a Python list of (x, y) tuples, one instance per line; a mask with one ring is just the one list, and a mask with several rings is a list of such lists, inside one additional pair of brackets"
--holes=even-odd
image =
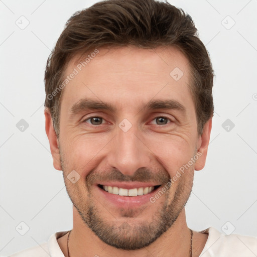
[[(212, 125), (210, 118), (202, 135), (197, 134), (195, 106), (189, 89), (189, 62), (175, 47), (98, 50), (99, 54), (63, 89), (58, 139), (49, 110), (45, 110), (53, 164), (55, 169), (63, 171), (66, 189), (74, 204), (70, 256), (189, 256), (191, 234), (184, 205), (191, 193), (194, 171), (205, 165)], [(76, 65), (77, 57), (69, 62), (65, 74), (72, 73)], [(183, 71), (178, 81), (170, 76), (175, 67)], [(108, 102), (117, 110), (84, 110), (71, 117), (69, 109), (83, 97)], [(186, 111), (143, 110), (142, 103), (151, 99), (176, 100)], [(166, 123), (157, 123), (163, 115), (168, 117)], [(92, 116), (102, 117), (102, 124), (90, 123), (93, 121), (88, 117)], [(132, 124), (127, 132), (118, 126), (124, 118)], [(120, 208), (107, 202), (94, 185), (102, 178), (109, 178), (111, 172), (112, 179), (123, 174), (125, 179), (143, 180), (144, 176), (137, 177), (141, 169), (144, 175), (150, 175), (152, 182), (162, 181), (162, 188), (163, 182), (173, 178), (197, 151), (201, 153), (198, 160), (155, 203)], [(73, 170), (80, 175), (74, 184), (67, 179)], [(143, 225), (151, 226), (149, 236), (154, 238), (153, 228), (159, 228), (163, 222), (161, 214), (166, 214), (166, 230), (144, 247), (117, 248), (92, 231), (87, 215), (89, 206), (93, 208), (95, 220), (102, 222), (98, 223), (98, 233), (106, 229), (105, 240), (116, 236), (118, 242), (127, 243), (130, 238), (131, 248), (140, 240), (143, 245), (147, 237), (141, 233)], [(207, 237), (207, 234), (193, 232), (193, 256), (199, 256)], [(67, 256), (67, 234), (59, 238), (58, 243)]]

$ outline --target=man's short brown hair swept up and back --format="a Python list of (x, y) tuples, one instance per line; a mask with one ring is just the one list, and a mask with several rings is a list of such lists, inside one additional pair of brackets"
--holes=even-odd
[(214, 111), (214, 73), (209, 54), (198, 38), (192, 18), (168, 2), (107, 0), (76, 12), (67, 21), (47, 60), (45, 107), (50, 110), (57, 137), (60, 133), (62, 90), (60, 93), (56, 90), (64, 79), (71, 58), (78, 54), (82, 57), (95, 48), (129, 45), (148, 49), (176, 46), (188, 58), (198, 134), (202, 134), (204, 124)]

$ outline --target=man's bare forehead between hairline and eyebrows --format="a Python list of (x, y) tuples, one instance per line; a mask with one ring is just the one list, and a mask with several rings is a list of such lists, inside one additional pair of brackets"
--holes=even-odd
[(62, 92), (62, 105), (71, 107), (83, 98), (109, 101), (118, 109), (155, 97), (176, 99), (188, 107), (192, 103), (190, 64), (175, 47), (100, 48), (79, 61), (78, 57), (65, 70), (65, 77), (76, 75)]

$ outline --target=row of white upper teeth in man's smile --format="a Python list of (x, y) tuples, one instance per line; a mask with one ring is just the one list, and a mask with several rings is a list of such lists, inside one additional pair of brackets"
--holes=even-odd
[(118, 188), (118, 187), (111, 187), (111, 186), (103, 186), (103, 188), (108, 193), (111, 193), (114, 195), (121, 195), (121, 196), (146, 195), (151, 193), (154, 190), (154, 187), (140, 187), (140, 188), (133, 188), (133, 189), (125, 189), (125, 188)]

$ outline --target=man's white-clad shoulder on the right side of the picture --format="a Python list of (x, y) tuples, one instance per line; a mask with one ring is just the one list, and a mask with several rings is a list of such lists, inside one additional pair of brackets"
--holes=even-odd
[(255, 257), (257, 254), (257, 237), (255, 236), (239, 234), (225, 235), (214, 227), (209, 227), (200, 232), (208, 233), (208, 239), (200, 257), (222, 257), (230, 256), (232, 253), (234, 257)]

